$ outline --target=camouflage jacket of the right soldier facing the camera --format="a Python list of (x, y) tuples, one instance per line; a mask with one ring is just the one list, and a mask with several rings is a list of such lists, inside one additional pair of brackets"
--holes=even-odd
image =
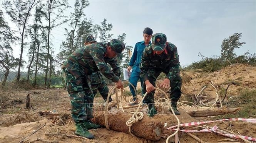
[(144, 81), (148, 80), (151, 69), (164, 72), (167, 78), (172, 81), (176, 74), (179, 74), (177, 47), (168, 42), (166, 50), (162, 54), (157, 55), (152, 49), (152, 44), (149, 44), (142, 53), (140, 68), (140, 75), (144, 78)]

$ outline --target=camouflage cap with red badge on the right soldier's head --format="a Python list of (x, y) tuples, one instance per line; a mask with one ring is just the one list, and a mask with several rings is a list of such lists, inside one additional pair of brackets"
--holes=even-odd
[(162, 33), (156, 33), (152, 35), (152, 49), (164, 50), (166, 46), (166, 35)]

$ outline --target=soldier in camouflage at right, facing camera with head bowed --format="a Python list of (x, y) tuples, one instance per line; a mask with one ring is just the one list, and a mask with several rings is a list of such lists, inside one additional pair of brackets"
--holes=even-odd
[(156, 33), (152, 36), (152, 44), (143, 51), (140, 68), (140, 75), (144, 78), (143, 89), (148, 93), (144, 99), (149, 107), (148, 115), (152, 117), (157, 114), (154, 107), (154, 86), (161, 72), (166, 74), (166, 79), (160, 86), (163, 88), (171, 86), (171, 105), (174, 113), (179, 115), (177, 101), (181, 97), (182, 85), (179, 75), (179, 55), (177, 47), (166, 41), (165, 34)]

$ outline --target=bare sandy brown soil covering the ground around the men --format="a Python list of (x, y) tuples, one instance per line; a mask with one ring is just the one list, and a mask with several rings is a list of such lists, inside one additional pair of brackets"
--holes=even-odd
[[(182, 89), (182, 97), (180, 101), (193, 101), (194, 96), (203, 97), (204, 103), (214, 101), (216, 99), (216, 92), (220, 98), (224, 98), (225, 90), (228, 84), (232, 83), (227, 89), (225, 101), (239, 96), (240, 92), (247, 88), (249, 90), (256, 89), (256, 67), (251, 67), (246, 64), (236, 64), (228, 66), (222, 70), (213, 73), (202, 73), (189, 71), (184, 72), (189, 76), (190, 83), (185, 82)], [(183, 75), (185, 76), (185, 75)], [(212, 81), (212, 82), (211, 82)], [(211, 83), (214, 84), (214, 88)], [(139, 86), (140, 84), (138, 84)], [(202, 91), (201, 89), (206, 86)], [(129, 91), (128, 88), (126, 88)], [(217, 91), (216, 91), (217, 90)], [(0, 102), (0, 142), (1, 143), (17, 143), (21, 140), (25, 143), (164, 143), (166, 137), (174, 133), (174, 131), (164, 128), (162, 138), (158, 141), (146, 140), (130, 135), (129, 133), (116, 132), (114, 130), (107, 130), (105, 127), (90, 130), (95, 136), (93, 140), (85, 140), (81, 138), (67, 137), (65, 135), (74, 135), (75, 125), (70, 118), (70, 100), (65, 89), (37, 89), (31, 91), (2, 91)], [(25, 109), (26, 96), (30, 94), (31, 109)], [(128, 104), (128, 98), (131, 95), (126, 95), (127, 101), (122, 99), (123, 106)], [(155, 96), (157, 96), (155, 94)], [(256, 96), (256, 95), (255, 95)], [(115, 99), (115, 95), (112, 95)], [(139, 96), (141, 98), (141, 96)], [(102, 98), (97, 97), (94, 100), (94, 111), (103, 110)], [(229, 102), (226, 102), (229, 106)], [(256, 108), (256, 103), (254, 104)], [(246, 104), (245, 104), (246, 105)], [(181, 107), (181, 106), (179, 106)], [(240, 105), (241, 107), (241, 105)], [(187, 108), (184, 108), (187, 109)], [(184, 109), (179, 109), (181, 115), (177, 115), (181, 123), (199, 122), (217, 120), (216, 117), (191, 117)], [(189, 108), (194, 110), (195, 108)], [(47, 111), (53, 116), (42, 116), (39, 111)], [(135, 111), (134, 109), (127, 109), (126, 112)], [(142, 108), (142, 110), (146, 110)], [(252, 109), (253, 110), (253, 109)], [(94, 112), (97, 114), (97, 112)], [(59, 115), (56, 115), (59, 114)], [(132, 114), (131, 114), (132, 115)], [(146, 114), (144, 114), (146, 116)], [(254, 117), (255, 116), (251, 116)], [(160, 111), (153, 119), (161, 123), (167, 123), (167, 127), (177, 125), (177, 120), (168, 110)], [(129, 120), (129, 119), (127, 119)], [(45, 125), (44, 125), (45, 124)], [(44, 125), (44, 127), (42, 127)], [(229, 130), (237, 135), (244, 135), (256, 138), (256, 123), (248, 123), (241, 121), (230, 122), (214, 122), (206, 124), (209, 127), (218, 126), (221, 130)], [(40, 130), (35, 132), (38, 128)], [(123, 127), (128, 128), (128, 127)], [(184, 129), (183, 127), (181, 129)], [(186, 129), (199, 130), (196, 127)], [(35, 132), (35, 133), (33, 133)], [(143, 131), (142, 131), (143, 132)], [(31, 133), (33, 133), (31, 135)], [(64, 134), (49, 136), (45, 134)], [(217, 135), (214, 133), (192, 133), (200, 138), (202, 141), (208, 143), (216, 143), (222, 141), (229, 141), (227, 136)], [(181, 143), (197, 143), (194, 138), (187, 133), (179, 132), (179, 140)], [(239, 140), (238, 142), (243, 142)], [(169, 143), (174, 143), (174, 137), (171, 137)]]

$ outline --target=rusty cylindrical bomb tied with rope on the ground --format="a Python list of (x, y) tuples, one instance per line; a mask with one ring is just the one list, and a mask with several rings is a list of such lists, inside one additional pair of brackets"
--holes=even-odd
[[(108, 114), (107, 117), (108, 125), (111, 130), (129, 133), (129, 127), (126, 125), (126, 121), (132, 117), (132, 114), (119, 112), (117, 114)], [(92, 121), (105, 126), (104, 112), (97, 112)], [(139, 120), (131, 126), (131, 132), (138, 137), (157, 141), (162, 136), (163, 127), (163, 123), (144, 115), (142, 120)]]

